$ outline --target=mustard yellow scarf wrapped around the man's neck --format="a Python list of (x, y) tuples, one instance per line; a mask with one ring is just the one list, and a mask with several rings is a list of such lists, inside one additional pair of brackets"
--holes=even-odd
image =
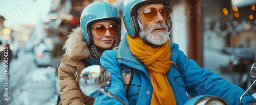
[(169, 41), (155, 49), (144, 44), (139, 37), (131, 38), (127, 35), (127, 41), (132, 54), (148, 69), (153, 86), (151, 104), (176, 104), (173, 90), (166, 76), (173, 63), (170, 61)]

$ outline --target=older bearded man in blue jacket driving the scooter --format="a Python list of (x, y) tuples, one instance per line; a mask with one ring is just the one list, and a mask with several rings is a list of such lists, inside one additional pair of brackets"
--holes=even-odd
[[(129, 104), (184, 104), (191, 96), (203, 94), (224, 98), (238, 104), (245, 92), (194, 60), (169, 41), (172, 20), (169, 0), (125, 0), (123, 20), (128, 33), (118, 50), (105, 51), (101, 65), (110, 71), (109, 91)], [(125, 91), (123, 64), (133, 68), (132, 80)], [(256, 102), (249, 94), (243, 103)], [(106, 95), (96, 97), (95, 104), (120, 104)]]

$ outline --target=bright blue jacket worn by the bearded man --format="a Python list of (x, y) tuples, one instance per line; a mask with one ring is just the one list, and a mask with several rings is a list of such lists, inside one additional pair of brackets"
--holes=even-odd
[[(178, 49), (178, 45), (170, 42), (170, 58), (174, 63), (166, 74), (174, 96), (176, 104), (185, 104), (189, 100), (187, 93), (191, 96), (214, 95), (224, 98), (230, 105), (238, 104), (240, 96), (245, 92), (242, 88), (225, 80), (208, 68), (201, 68), (194, 60), (189, 60), (187, 56)], [(118, 50), (104, 51), (100, 59), (101, 65), (110, 71), (112, 76), (109, 91), (129, 104), (150, 104), (153, 87), (147, 68), (130, 51), (126, 36), (122, 39)], [(133, 80), (129, 88), (128, 95), (124, 89), (122, 79), (122, 66), (134, 68)], [(128, 99), (128, 100), (127, 100)], [(256, 102), (256, 99), (249, 94), (243, 98), (243, 104)], [(110, 98), (104, 94), (95, 98), (94, 104), (121, 104), (117, 99)]]

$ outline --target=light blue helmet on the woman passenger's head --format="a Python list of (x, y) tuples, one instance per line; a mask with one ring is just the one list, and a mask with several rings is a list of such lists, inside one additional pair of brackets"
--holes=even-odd
[[(93, 2), (83, 9), (80, 19), (82, 35), (87, 46), (93, 44), (91, 25), (99, 20), (114, 20), (121, 26), (121, 19), (118, 10), (108, 2)], [(117, 33), (121, 36), (121, 27)]]

